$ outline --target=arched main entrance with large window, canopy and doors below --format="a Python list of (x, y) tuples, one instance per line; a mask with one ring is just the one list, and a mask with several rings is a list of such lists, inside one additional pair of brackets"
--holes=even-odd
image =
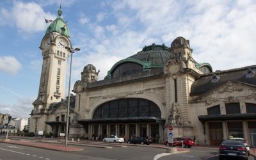
[(126, 140), (131, 136), (151, 136), (154, 142), (159, 141), (159, 129), (162, 129), (164, 122), (156, 103), (138, 98), (105, 102), (95, 109), (91, 120), (79, 120), (79, 124), (92, 125), (89, 130), (93, 131), (89, 134), (97, 132), (100, 138), (112, 134), (123, 136)]

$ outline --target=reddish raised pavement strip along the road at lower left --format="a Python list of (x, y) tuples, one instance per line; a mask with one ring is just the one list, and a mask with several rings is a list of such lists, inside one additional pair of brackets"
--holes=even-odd
[(25, 145), (29, 147), (37, 147), (37, 148), (44, 148), (49, 150), (58, 150), (64, 152), (74, 152), (74, 151), (81, 151), (83, 148), (79, 147), (65, 147), (65, 144), (61, 143), (59, 145), (52, 144), (52, 143), (38, 143), (38, 142), (29, 142), (29, 141), (18, 141), (18, 140), (0, 140), (0, 143), (10, 143), (15, 145)]

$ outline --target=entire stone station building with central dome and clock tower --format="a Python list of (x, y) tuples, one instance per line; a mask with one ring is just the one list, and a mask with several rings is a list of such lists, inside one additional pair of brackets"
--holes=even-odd
[[(61, 10), (58, 15), (40, 45), (42, 73), (29, 127), (53, 136), (66, 127), (65, 47), (72, 48)], [(212, 72), (209, 63), (193, 59), (189, 40), (180, 36), (170, 44), (145, 46), (113, 64), (101, 81), (99, 71), (86, 65), (74, 84), (68, 136), (148, 136), (162, 143), (172, 125), (175, 137), (196, 136), (200, 144), (237, 136), (255, 146), (256, 66)]]

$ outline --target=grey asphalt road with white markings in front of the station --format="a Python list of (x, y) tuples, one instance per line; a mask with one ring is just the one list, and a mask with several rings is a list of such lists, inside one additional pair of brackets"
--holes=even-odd
[[(79, 146), (84, 148), (79, 152), (60, 152), (54, 150), (45, 150), (42, 148), (26, 147), (21, 145), (11, 145), (8, 143), (0, 143), (0, 160), (8, 159), (120, 159), (120, 160), (167, 160), (167, 159), (218, 159), (218, 148), (208, 147), (191, 147), (190, 152), (170, 154), (166, 153), (164, 148), (154, 148), (147, 145), (128, 145), (123, 143), (115, 147), (113, 143), (92, 143), (95, 146), (109, 146), (108, 148)], [(249, 157), (254, 160), (253, 156)]]

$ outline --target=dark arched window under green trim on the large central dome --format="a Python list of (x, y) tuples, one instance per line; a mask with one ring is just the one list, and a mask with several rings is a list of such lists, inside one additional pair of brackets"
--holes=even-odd
[(112, 77), (127, 76), (141, 71), (143, 71), (143, 67), (137, 63), (122, 63), (113, 70)]

